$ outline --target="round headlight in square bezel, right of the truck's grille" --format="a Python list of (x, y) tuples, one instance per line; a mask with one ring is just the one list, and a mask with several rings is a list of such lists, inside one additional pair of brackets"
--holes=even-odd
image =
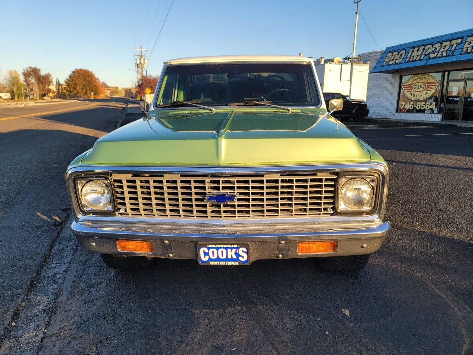
[(339, 181), (338, 210), (368, 211), (373, 209), (375, 177), (341, 177)]

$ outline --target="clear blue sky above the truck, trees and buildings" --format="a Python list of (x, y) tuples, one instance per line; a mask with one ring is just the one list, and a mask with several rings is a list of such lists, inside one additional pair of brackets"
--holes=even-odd
[[(108, 85), (130, 86), (136, 79), (128, 71), (133, 48), (151, 50), (171, 1), (2, 1), (0, 76), (31, 65), (63, 82), (70, 71), (85, 68)], [(471, 5), (362, 0), (360, 10), (377, 44), (386, 48), (471, 28)], [(148, 72), (159, 74), (164, 61), (188, 56), (343, 57), (352, 49), (355, 11), (352, 0), (175, 0)], [(377, 49), (360, 16), (356, 52)]]

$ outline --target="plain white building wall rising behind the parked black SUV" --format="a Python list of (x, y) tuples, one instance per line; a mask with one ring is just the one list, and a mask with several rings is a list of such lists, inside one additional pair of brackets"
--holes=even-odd
[[(324, 63), (315, 66), (323, 92), (350, 93), (350, 63)], [(351, 98), (366, 100), (368, 87), (368, 64), (354, 64)]]

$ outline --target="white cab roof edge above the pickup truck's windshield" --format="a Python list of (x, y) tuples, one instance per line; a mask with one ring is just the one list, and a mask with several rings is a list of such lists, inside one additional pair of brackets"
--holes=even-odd
[(178, 58), (164, 62), (173, 64), (229, 63), (229, 62), (313, 62), (313, 58), (298, 55), (217, 55), (211, 57)]

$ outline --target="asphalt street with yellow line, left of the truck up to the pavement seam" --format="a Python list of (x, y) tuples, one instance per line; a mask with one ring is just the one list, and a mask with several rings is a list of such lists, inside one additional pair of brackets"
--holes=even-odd
[(64, 171), (110, 132), (123, 103), (99, 100), (0, 109), (0, 329), (67, 221)]

